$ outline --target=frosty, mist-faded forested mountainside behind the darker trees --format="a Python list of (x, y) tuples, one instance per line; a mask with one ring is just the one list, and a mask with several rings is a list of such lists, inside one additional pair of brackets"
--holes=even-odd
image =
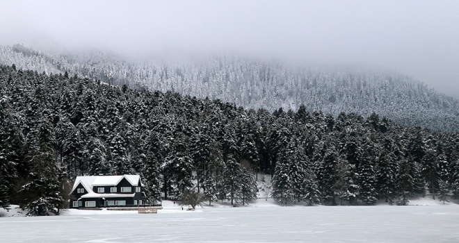
[(321, 110), (368, 117), (373, 112), (404, 126), (458, 131), (459, 101), (408, 76), (351, 68), (303, 67), (278, 60), (214, 56), (138, 62), (103, 52), (52, 55), (16, 44), (0, 47), (0, 64), (39, 73), (67, 72), (111, 85), (220, 99), (244, 108)]

